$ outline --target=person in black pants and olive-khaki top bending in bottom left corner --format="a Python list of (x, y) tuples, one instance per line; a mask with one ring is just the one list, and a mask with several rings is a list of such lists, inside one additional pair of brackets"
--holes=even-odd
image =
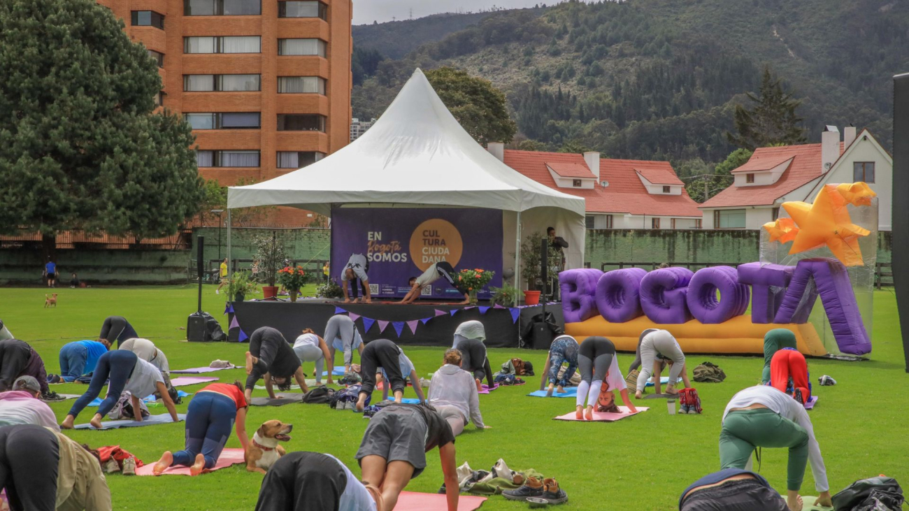
[(0, 487), (13, 511), (111, 511), (97, 451), (46, 427), (0, 427)]

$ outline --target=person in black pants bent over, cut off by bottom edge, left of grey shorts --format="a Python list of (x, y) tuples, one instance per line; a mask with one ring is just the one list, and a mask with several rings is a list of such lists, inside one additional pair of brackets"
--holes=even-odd
[(299, 451), (275, 462), (262, 480), (255, 511), (383, 510), (379, 488), (361, 483), (332, 455)]

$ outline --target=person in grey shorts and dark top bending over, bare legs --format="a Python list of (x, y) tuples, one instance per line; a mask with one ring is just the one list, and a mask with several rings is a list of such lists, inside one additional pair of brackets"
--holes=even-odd
[[(372, 346), (373, 341), (366, 346)], [(448, 511), (456, 511), (458, 478), (454, 466), (454, 433), (429, 405), (393, 403), (369, 421), (356, 452), (363, 482), (382, 492), (379, 511), (392, 511), (407, 483), (423, 473), (426, 453), (439, 448)]]

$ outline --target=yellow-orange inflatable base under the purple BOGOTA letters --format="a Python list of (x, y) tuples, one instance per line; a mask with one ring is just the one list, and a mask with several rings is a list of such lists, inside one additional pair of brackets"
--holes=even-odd
[(625, 323), (609, 323), (603, 316), (594, 316), (581, 323), (566, 323), (565, 334), (578, 342), (587, 337), (608, 337), (615, 349), (635, 351), (637, 341), (647, 328), (668, 330), (675, 336), (685, 353), (752, 354), (764, 355), (764, 335), (774, 328), (785, 328), (795, 334), (798, 350), (804, 355), (824, 356), (827, 350), (814, 325), (760, 325), (751, 322), (751, 316), (735, 316), (719, 325), (704, 325), (693, 319), (682, 325), (657, 325), (647, 316), (635, 317)]

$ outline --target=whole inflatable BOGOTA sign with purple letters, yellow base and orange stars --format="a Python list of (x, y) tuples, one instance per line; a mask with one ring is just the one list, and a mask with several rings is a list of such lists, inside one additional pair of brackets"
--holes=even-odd
[(736, 268), (562, 272), (565, 332), (634, 351), (644, 329), (664, 328), (688, 353), (760, 355), (764, 334), (787, 328), (804, 355), (871, 352), (874, 192), (824, 185), (813, 204), (786, 202), (781, 215), (761, 230), (761, 260)]

